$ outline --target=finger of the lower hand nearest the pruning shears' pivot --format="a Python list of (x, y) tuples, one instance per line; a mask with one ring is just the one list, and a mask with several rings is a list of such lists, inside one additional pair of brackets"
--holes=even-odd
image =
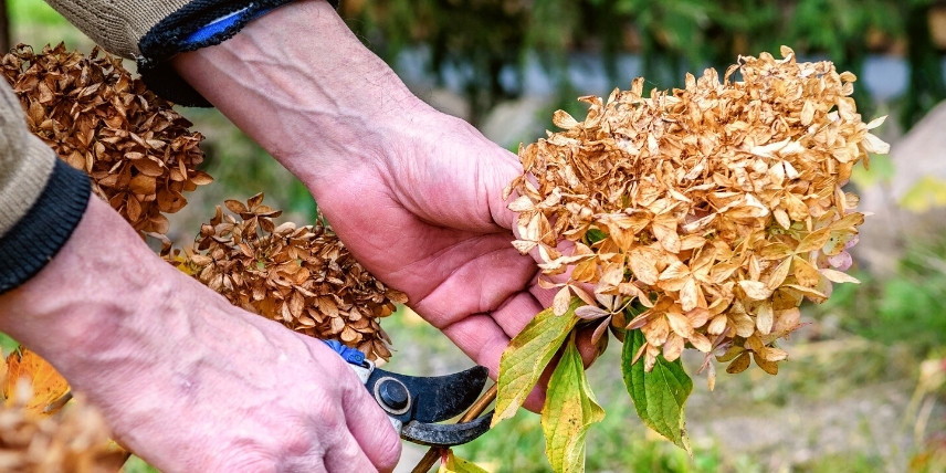
[[(393, 470), (401, 456), (400, 434), (395, 431), (388, 414), (378, 406), (359, 379), (355, 378), (354, 382), (346, 383), (341, 396), (341, 409), (345, 412), (345, 423), (359, 451), (364, 452), (379, 471)], [(347, 469), (345, 471), (369, 470)]]

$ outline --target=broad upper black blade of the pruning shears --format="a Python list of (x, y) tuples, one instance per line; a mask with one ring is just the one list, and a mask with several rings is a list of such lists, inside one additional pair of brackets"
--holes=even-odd
[(445, 376), (419, 377), (400, 375), (376, 368), (365, 386), (369, 392), (385, 378), (401, 381), (410, 392), (410, 409), (402, 414), (389, 414), (401, 422), (441, 422), (465, 411), (483, 390), (490, 370), (475, 366), (467, 370)]

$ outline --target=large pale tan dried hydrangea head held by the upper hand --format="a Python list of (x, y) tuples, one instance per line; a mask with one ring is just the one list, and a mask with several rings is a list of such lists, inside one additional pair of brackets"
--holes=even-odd
[(864, 216), (841, 187), (887, 151), (869, 133), (883, 119), (861, 120), (853, 74), (781, 53), (742, 57), (722, 82), (707, 70), (649, 97), (642, 78), (607, 103), (582, 97), (584, 122), (559, 111), (565, 132), (519, 151), (525, 175), (506, 190), (519, 196), (516, 246), (567, 274), (557, 312), (574, 292), (593, 304), (577, 315), (640, 328), (648, 370), (690, 344), (707, 365), (728, 348), (728, 371), (751, 356), (775, 374), (787, 354), (772, 344), (798, 326), (802, 298), (855, 281), (842, 271)]

